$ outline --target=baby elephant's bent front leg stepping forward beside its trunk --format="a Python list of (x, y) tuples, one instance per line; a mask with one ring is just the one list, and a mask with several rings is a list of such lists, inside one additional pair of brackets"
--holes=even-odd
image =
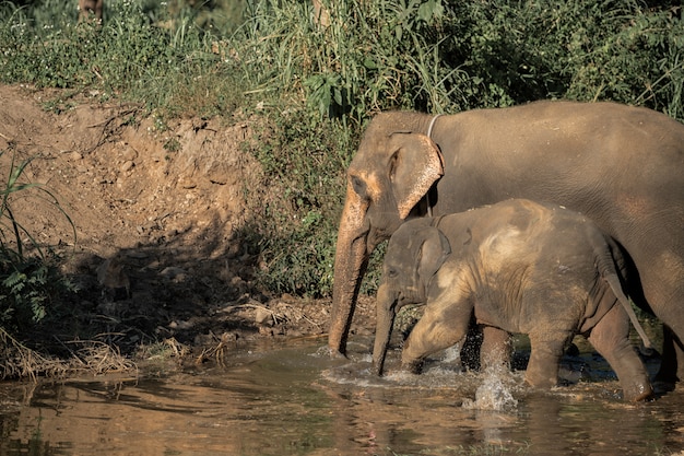
[[(431, 353), (458, 343), (468, 331), (470, 312), (443, 312), (437, 306), (427, 306), (404, 342), (401, 353), (402, 367), (418, 374), (423, 360)], [(450, 311), (453, 311), (450, 308)]]

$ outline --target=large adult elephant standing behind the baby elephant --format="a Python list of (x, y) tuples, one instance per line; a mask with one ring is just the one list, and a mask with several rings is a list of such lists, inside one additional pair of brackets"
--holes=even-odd
[(347, 171), (331, 352), (345, 353), (369, 254), (406, 218), (508, 198), (582, 212), (626, 248), (627, 292), (665, 324), (659, 379), (684, 378), (684, 126), (615, 103), (374, 118)]

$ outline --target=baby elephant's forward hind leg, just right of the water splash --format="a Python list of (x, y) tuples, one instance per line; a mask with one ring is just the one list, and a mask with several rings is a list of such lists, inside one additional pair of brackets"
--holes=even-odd
[(549, 335), (530, 334), (532, 351), (524, 379), (536, 388), (551, 388), (558, 384), (558, 365), (563, 350), (573, 338), (571, 331)]

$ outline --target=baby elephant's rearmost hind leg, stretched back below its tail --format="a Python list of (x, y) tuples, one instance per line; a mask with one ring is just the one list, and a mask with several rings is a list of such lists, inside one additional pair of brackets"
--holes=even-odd
[(588, 339), (617, 374), (626, 400), (644, 400), (653, 394), (646, 367), (629, 342), (629, 318), (622, 306), (614, 305)]

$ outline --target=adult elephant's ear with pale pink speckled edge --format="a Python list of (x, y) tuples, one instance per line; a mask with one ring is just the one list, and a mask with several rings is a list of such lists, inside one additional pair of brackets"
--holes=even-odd
[(439, 148), (425, 135), (398, 132), (391, 136), (397, 150), (390, 160), (390, 182), (401, 220), (444, 175)]

